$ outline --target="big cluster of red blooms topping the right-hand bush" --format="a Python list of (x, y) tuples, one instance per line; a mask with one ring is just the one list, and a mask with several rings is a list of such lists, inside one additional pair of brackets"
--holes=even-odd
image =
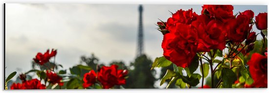
[[(185, 68), (198, 52), (223, 50), (228, 41), (252, 43), (256, 40), (251, 32), (253, 17), (251, 10), (233, 15), (232, 5), (203, 5), (201, 15), (180, 9), (167, 22), (157, 22), (164, 35), (163, 56)], [(259, 30), (267, 29), (267, 13), (260, 13), (255, 23)]]

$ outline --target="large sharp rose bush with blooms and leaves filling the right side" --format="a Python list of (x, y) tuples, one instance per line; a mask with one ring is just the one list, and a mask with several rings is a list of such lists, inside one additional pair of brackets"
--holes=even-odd
[[(267, 88), (267, 56), (257, 54), (267, 54), (267, 13), (253, 18), (252, 10), (234, 15), (232, 5), (203, 5), (201, 15), (180, 9), (167, 22), (157, 22), (166, 59), (157, 57), (152, 68), (174, 63), (174, 71), (168, 69), (160, 85), (170, 79), (167, 88), (173, 82), (190, 88), (202, 78), (203, 86), (211, 71), (210, 86), (200, 88)], [(254, 24), (260, 33), (253, 31)], [(256, 39), (259, 34), (262, 40)], [(195, 74), (199, 64), (201, 74)]]

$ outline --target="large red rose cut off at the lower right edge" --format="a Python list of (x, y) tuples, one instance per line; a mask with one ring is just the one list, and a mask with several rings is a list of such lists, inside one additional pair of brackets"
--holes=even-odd
[(254, 53), (247, 62), (253, 78), (253, 86), (267, 88), (267, 56)]

